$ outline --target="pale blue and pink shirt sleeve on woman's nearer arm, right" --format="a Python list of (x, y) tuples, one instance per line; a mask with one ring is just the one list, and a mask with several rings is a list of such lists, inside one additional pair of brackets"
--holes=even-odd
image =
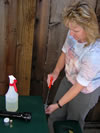
[(96, 74), (100, 71), (100, 52), (90, 52), (82, 59), (80, 71), (77, 75), (77, 82), (83, 86), (88, 84), (95, 78)]

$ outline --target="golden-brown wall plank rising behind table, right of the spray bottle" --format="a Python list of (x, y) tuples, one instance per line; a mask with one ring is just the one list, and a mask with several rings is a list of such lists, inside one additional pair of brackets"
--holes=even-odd
[(18, 0), (16, 77), (20, 95), (30, 94), (36, 0)]

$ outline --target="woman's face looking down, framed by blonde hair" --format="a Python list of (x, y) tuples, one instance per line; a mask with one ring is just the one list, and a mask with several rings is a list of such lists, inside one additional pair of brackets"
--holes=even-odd
[(69, 22), (70, 35), (78, 42), (86, 42), (85, 30), (75, 22)]

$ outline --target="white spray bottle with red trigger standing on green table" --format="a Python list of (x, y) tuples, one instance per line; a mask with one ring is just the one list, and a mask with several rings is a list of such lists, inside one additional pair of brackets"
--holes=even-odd
[(9, 80), (9, 89), (5, 96), (6, 110), (9, 112), (16, 112), (18, 110), (17, 80), (13, 75), (9, 75)]

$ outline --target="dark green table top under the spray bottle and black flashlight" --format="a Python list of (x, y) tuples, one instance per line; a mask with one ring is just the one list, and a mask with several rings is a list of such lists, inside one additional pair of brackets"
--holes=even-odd
[[(5, 97), (0, 96), (0, 110), (5, 110)], [(48, 133), (48, 126), (42, 98), (40, 96), (19, 96), (17, 112), (31, 112), (32, 119), (26, 122), (13, 119), (12, 126), (5, 126), (0, 117), (0, 132), (3, 133)]]

